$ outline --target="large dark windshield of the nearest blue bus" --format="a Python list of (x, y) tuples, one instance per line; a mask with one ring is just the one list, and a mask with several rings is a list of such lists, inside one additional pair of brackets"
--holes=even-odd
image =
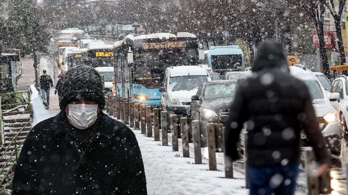
[[(162, 86), (163, 76), (169, 66), (196, 64), (196, 50), (182, 48), (169, 51), (149, 51), (135, 54), (133, 70), (134, 83), (148, 83)], [(156, 87), (156, 88), (158, 88)]]

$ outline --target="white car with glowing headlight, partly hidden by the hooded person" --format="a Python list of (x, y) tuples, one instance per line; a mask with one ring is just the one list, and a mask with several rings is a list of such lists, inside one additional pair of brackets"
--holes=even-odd
[[(307, 85), (323, 137), (331, 152), (339, 154), (342, 138), (341, 122), (339, 111), (333, 104), (337, 102), (340, 94), (326, 93), (318, 78), (302, 65), (294, 65), (289, 69), (292, 76), (302, 80)], [(302, 131), (300, 136), (303, 146), (308, 146), (307, 135)]]

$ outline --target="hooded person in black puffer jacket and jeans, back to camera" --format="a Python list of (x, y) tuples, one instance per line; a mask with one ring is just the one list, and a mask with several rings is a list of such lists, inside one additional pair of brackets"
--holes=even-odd
[(225, 126), (226, 154), (239, 159), (237, 143), (247, 128), (248, 180), (251, 195), (292, 195), (300, 158), (300, 127), (304, 128), (320, 164), (316, 175), (330, 165), (323, 136), (306, 84), (290, 75), (282, 47), (264, 42), (252, 67), (253, 76), (237, 88)]

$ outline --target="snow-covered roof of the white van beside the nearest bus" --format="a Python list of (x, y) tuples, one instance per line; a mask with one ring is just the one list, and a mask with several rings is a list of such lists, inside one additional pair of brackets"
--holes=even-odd
[(171, 77), (204, 75), (208, 76), (207, 70), (200, 66), (174, 66), (169, 68)]

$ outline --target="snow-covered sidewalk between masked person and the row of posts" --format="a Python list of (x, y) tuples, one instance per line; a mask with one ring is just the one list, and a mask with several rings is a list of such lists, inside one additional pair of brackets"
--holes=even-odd
[(248, 194), (241, 173), (235, 171), (236, 179), (226, 179), (222, 165), (217, 165), (220, 171), (209, 171), (206, 159), (205, 164), (194, 164), (193, 153), (191, 158), (182, 157), (182, 147), (172, 152), (172, 146), (161, 146), (133, 131), (143, 156), (148, 194)]

